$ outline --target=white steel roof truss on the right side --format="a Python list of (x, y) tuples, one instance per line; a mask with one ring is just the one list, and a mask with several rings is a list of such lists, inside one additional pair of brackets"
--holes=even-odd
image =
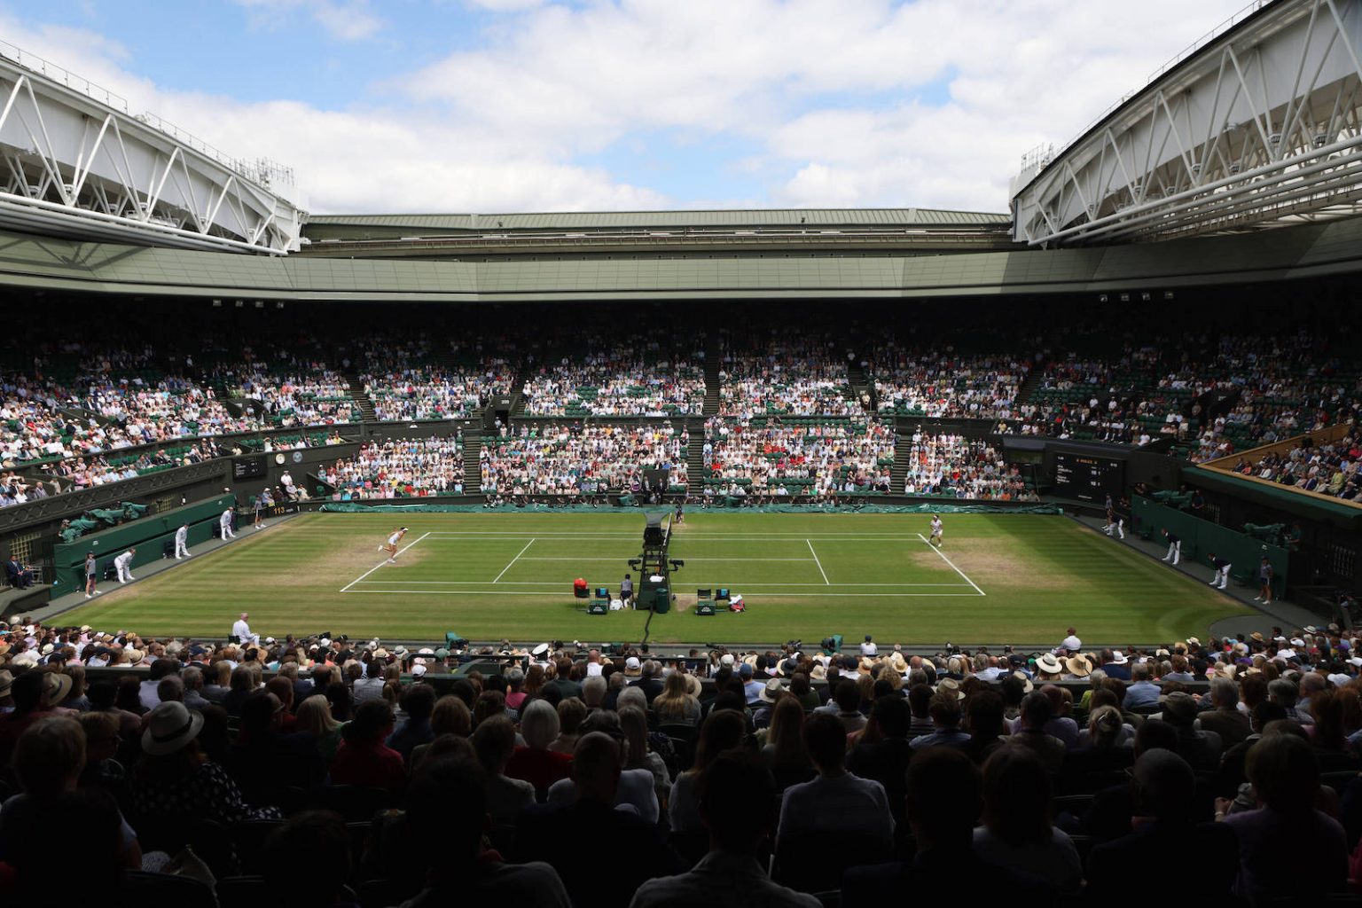
[(1038, 246), (1235, 233), (1362, 211), (1362, 0), (1256, 3), (1024, 170)]

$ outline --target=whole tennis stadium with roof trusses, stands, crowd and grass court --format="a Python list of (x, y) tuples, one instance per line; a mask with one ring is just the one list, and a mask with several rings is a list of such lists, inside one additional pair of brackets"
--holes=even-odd
[(1362, 905), (1359, 18), (1007, 214), (309, 215), (5, 44), (0, 903)]

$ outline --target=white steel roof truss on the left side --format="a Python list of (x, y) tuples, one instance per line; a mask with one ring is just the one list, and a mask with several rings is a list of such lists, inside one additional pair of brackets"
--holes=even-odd
[(281, 195), (285, 169), (226, 158), (91, 88), (0, 46), (0, 227), (191, 249), (298, 248), (306, 214)]

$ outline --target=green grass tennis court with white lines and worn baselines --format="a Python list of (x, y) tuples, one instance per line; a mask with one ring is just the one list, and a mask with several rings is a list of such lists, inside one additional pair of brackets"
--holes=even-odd
[[(1205, 636), (1246, 610), (1205, 584), (1060, 516), (688, 513), (671, 536), (680, 596), (658, 643), (782, 643), (842, 633), (883, 643), (1053, 645)], [(410, 528), (398, 564), (379, 545)], [(572, 580), (617, 591), (644, 519), (610, 513), (313, 513), (245, 536), (63, 619), (101, 630), (222, 637), (238, 611), (262, 636), (321, 630), (437, 640), (639, 640), (647, 613), (587, 615)], [(697, 587), (729, 587), (745, 614), (697, 617)], [(109, 587), (105, 585), (108, 589)]]

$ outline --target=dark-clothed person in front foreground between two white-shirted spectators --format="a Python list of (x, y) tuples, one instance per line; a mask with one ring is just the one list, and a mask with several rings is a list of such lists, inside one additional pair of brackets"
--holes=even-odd
[(908, 764), (904, 814), (918, 843), (913, 860), (851, 867), (842, 875), (842, 904), (902, 901), (929, 904), (959, 898), (962, 886), (1007, 892), (1019, 905), (1054, 905), (1049, 883), (990, 864), (974, 852), (974, 824), (982, 799), (979, 769), (953, 747), (928, 747)]

